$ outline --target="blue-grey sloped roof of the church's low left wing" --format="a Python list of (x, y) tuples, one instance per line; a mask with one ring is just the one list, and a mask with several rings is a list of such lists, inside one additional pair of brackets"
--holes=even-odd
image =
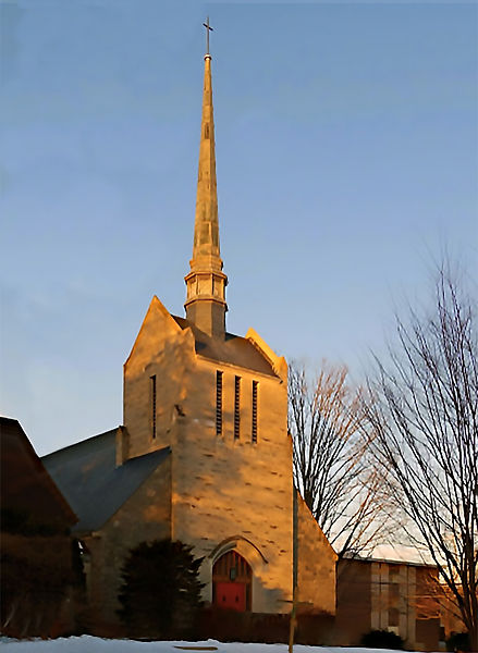
[(101, 528), (170, 454), (164, 447), (117, 467), (115, 439), (113, 429), (42, 458), (78, 516), (75, 532)]

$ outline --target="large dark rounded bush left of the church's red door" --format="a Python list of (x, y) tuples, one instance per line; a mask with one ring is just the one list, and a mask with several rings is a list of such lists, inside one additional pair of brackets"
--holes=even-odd
[(130, 551), (122, 569), (118, 614), (130, 636), (181, 638), (193, 633), (203, 606), (198, 580), (204, 558), (171, 540), (143, 542)]

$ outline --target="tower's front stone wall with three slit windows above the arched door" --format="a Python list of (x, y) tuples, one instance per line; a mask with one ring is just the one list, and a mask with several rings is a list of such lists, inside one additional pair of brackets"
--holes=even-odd
[[(223, 372), (223, 433), (216, 434), (216, 374)], [(234, 438), (234, 378), (241, 377), (241, 431)], [(252, 387), (258, 382), (257, 443)], [(206, 556), (201, 580), (212, 599), (212, 565), (228, 546), (253, 568), (253, 612), (282, 613), (292, 599), (292, 449), (286, 384), (197, 357), (187, 378), (172, 445), (173, 537)], [(223, 544), (223, 546), (221, 546)]]

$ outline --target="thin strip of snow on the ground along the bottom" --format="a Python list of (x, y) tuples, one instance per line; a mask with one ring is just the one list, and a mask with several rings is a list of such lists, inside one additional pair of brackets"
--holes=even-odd
[[(136, 642), (107, 640), (84, 634), (56, 640), (1, 640), (2, 653), (182, 653), (184, 651), (216, 651), (217, 653), (286, 653), (286, 644), (240, 644), (206, 642)], [(389, 649), (351, 649), (341, 646), (294, 645), (294, 653), (396, 653)]]

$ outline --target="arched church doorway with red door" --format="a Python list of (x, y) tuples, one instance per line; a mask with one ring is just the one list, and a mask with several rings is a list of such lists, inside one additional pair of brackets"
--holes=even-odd
[(253, 570), (236, 551), (228, 551), (212, 567), (212, 603), (224, 609), (250, 609)]

